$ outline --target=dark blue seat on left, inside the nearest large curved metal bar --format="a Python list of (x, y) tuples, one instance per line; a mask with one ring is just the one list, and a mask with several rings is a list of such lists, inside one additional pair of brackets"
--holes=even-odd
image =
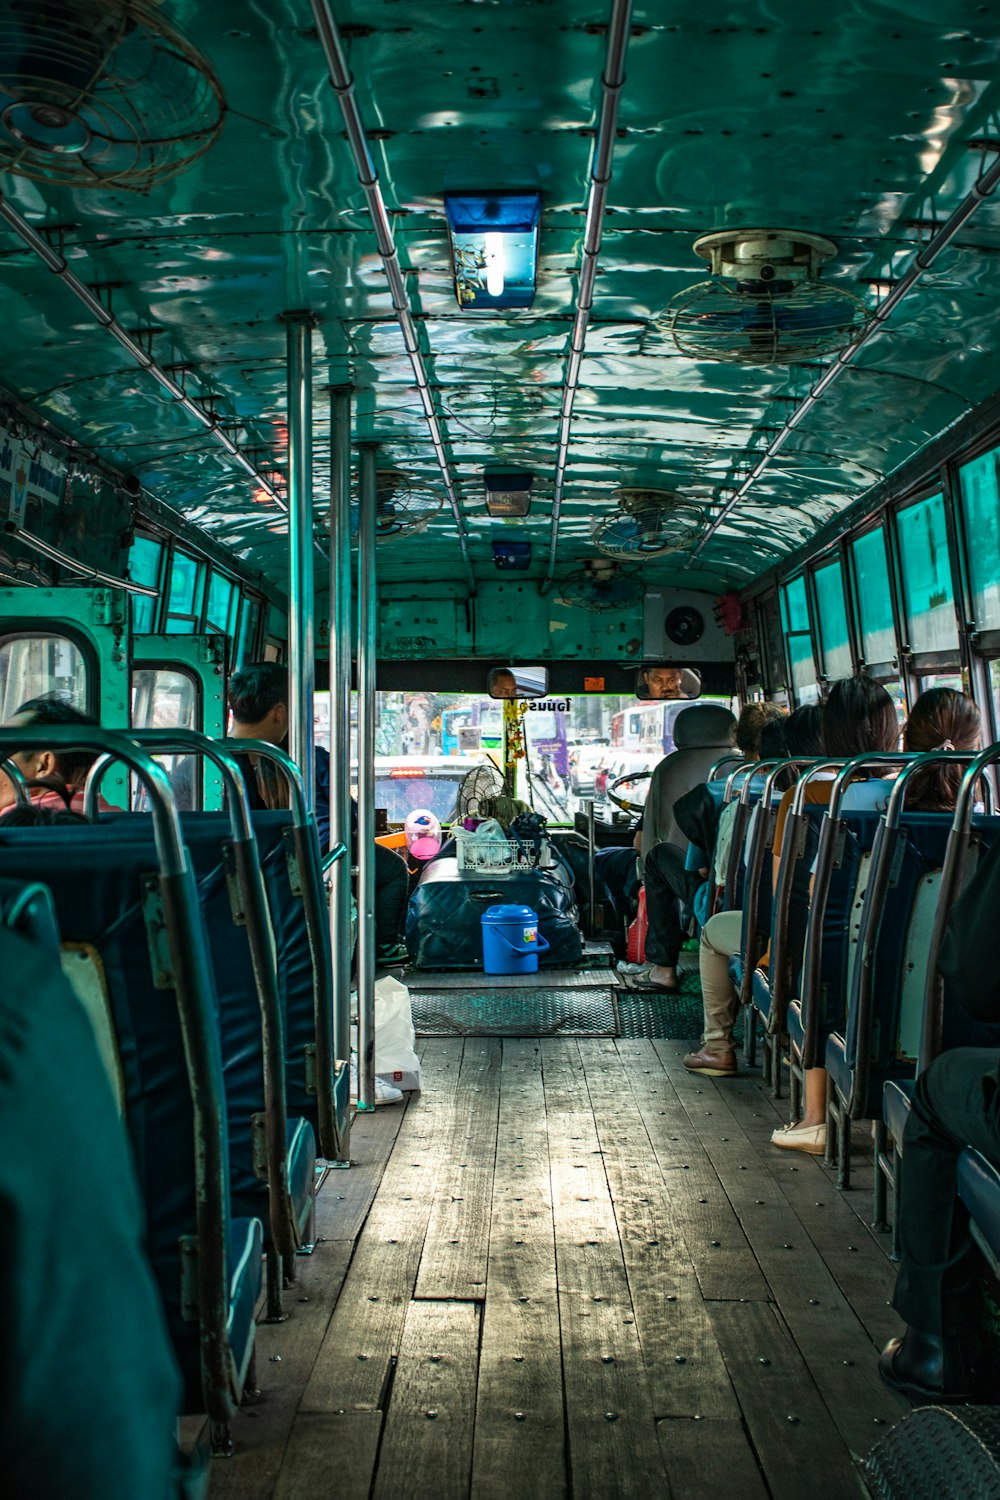
[[(177, 994), (172, 987), (162, 987), (162, 974), (157, 972), (162, 950), (154, 934), (162, 918), (156, 910), (156, 880), (151, 879), (157, 872), (157, 855), (148, 819), (142, 820), (144, 837), (129, 826), (130, 822), (135, 819), (57, 828), (4, 830), (0, 825), (0, 873), (48, 885), (66, 940), (87, 944), (100, 956), (114, 1012), (127, 1131), (145, 1206), (145, 1248), (184, 1377), (186, 1406), (189, 1410), (207, 1408), (214, 1424), (225, 1424), (240, 1400), (253, 1352), (253, 1318), (237, 1317), (235, 1310), (244, 1304), (255, 1305), (259, 1298), (262, 1228), (256, 1218), (231, 1215), (222, 1096), (223, 1248), (231, 1275), (229, 1376), (226, 1389), (219, 1389), (217, 1380), (207, 1374), (202, 1382), (202, 1338), (192, 1268), (184, 1264), (189, 1257), (181, 1251), (181, 1244), (196, 1245), (196, 1152), (202, 1146), (196, 1142)], [(153, 898), (147, 900), (150, 896)], [(204, 926), (195, 928), (195, 940), (205, 945)], [(222, 1095), (214, 980), (207, 945), (201, 956), (193, 957), (211, 1005), (210, 1018), (205, 1022), (202, 1017), (207, 1066), (214, 1092)], [(183, 1294), (181, 1286), (192, 1290)], [(226, 1292), (222, 1287), (219, 1298), (225, 1306)]]

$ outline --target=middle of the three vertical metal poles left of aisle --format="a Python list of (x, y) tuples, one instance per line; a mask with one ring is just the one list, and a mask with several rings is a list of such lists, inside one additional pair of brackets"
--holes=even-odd
[[(330, 396), (330, 843), (348, 854), (330, 870), (333, 1048), (351, 1062), (351, 387)], [(345, 1083), (343, 1089), (349, 1086)], [(351, 1110), (340, 1110), (340, 1156), (351, 1156)], [(346, 1102), (346, 1092), (343, 1094)]]

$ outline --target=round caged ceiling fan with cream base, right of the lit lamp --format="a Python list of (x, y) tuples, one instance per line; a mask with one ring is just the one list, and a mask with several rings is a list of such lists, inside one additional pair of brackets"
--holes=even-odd
[(822, 280), (832, 240), (799, 230), (723, 230), (694, 252), (709, 280), (672, 298), (666, 326), (681, 354), (730, 364), (798, 364), (853, 344), (871, 312), (843, 286)]

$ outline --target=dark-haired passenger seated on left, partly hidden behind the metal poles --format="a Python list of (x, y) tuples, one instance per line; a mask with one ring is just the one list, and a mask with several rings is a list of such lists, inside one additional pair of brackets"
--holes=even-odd
[[(288, 740), (288, 672), (277, 662), (258, 662), (243, 668), (229, 678), (229, 710), (232, 711), (234, 740), (264, 740), (282, 746)], [(247, 770), (246, 784), (252, 807), (283, 806), (273, 777), (262, 771)], [(319, 848), (330, 848), (330, 754), (322, 746), (315, 747), (316, 771), (316, 828)], [(351, 858), (357, 862), (357, 802), (351, 801)], [(406, 950), (400, 942), (406, 902), (409, 897), (409, 873), (406, 861), (394, 849), (373, 844), (375, 849), (375, 946), (381, 963), (403, 963)]]

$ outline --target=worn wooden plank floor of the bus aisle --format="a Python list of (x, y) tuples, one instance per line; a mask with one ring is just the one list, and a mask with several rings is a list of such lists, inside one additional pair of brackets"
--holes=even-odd
[(757, 1074), (684, 1050), (424, 1041), (327, 1178), (211, 1500), (864, 1496), (907, 1410), (868, 1166), (838, 1194)]

